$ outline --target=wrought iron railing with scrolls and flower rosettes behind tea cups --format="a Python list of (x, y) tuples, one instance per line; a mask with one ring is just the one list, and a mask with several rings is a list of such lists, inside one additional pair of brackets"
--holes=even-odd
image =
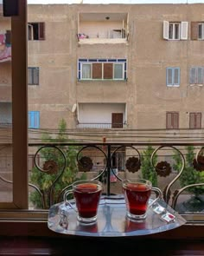
[[(102, 181), (103, 193), (110, 195), (122, 193), (125, 177), (139, 176), (157, 181), (163, 200), (175, 210), (202, 213), (203, 150), (204, 143), (30, 143), (35, 163), (29, 174), (30, 195), (37, 194), (41, 207), (48, 208), (63, 200), (77, 179)], [(36, 207), (35, 200), (33, 204)], [(192, 205), (193, 210), (188, 209)]]

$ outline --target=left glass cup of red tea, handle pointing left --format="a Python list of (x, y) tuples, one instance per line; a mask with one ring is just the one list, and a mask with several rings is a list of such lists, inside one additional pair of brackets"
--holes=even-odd
[[(64, 194), (64, 201), (78, 214), (80, 223), (90, 224), (97, 220), (102, 183), (100, 181), (75, 181), (73, 189)], [(67, 200), (68, 194), (73, 194), (76, 208)]]

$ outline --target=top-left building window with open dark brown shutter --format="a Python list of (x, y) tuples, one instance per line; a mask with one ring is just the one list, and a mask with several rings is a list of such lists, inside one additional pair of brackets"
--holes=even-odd
[(45, 40), (45, 23), (28, 23), (29, 40)]

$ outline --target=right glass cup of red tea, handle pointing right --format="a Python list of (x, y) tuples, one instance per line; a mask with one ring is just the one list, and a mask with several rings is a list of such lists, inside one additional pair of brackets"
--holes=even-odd
[[(151, 191), (156, 193), (156, 199), (150, 200)], [(152, 187), (150, 181), (143, 179), (131, 179), (123, 181), (123, 193), (126, 204), (127, 217), (131, 220), (145, 220), (148, 209), (162, 198), (162, 192), (158, 187)]]

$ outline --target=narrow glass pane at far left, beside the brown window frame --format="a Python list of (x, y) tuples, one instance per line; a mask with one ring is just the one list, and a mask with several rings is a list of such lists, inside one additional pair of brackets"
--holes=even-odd
[[(13, 181), (11, 19), (0, 3), (0, 176)], [(0, 202), (13, 201), (12, 183), (0, 180)]]

